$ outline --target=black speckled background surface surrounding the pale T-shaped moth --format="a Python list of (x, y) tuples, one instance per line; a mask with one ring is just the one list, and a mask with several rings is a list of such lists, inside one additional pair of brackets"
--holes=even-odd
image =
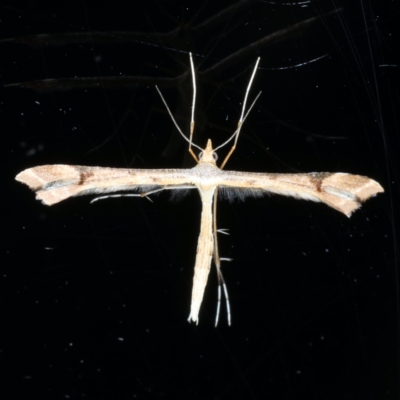
[[(397, 398), (400, 8), (348, 3), (1, 2), (2, 399)], [(200, 146), (235, 130), (261, 57), (250, 101), (263, 94), (227, 169), (351, 172), (385, 188), (351, 219), (280, 196), (219, 202), (231, 327), (224, 304), (214, 327), (214, 266), (199, 325), (186, 321), (197, 193), (47, 207), (14, 180), (52, 163), (193, 166), (154, 88), (187, 127), (190, 76), (165, 78), (188, 71), (189, 51)], [(118, 76), (134, 78), (106, 79)], [(98, 88), (59, 80), (75, 77)], [(44, 92), (44, 79), (57, 81)]]

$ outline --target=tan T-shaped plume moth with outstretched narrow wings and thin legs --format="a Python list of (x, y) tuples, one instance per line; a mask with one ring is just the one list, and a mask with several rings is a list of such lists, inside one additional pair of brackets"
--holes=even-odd
[[(193, 64), (191, 65), (194, 80), (194, 68)], [(240, 127), (246, 118), (246, 116), (243, 118), (243, 113), (249, 87), (238, 129), (232, 136), (235, 143), (222, 163), (222, 167), (225, 166), (236, 146)], [(176, 124), (175, 120), (174, 123)], [(192, 112), (191, 137), (193, 128)], [(183, 135), (181, 131), (180, 133)], [(186, 137), (185, 139), (190, 144), (189, 150), (194, 154), (191, 150), (191, 137), (190, 140)], [(197, 157), (195, 158), (197, 160)], [(213, 256), (219, 282), (222, 281), (224, 284), (219, 269), (221, 258), (219, 258), (216, 246), (215, 220), (213, 224), (213, 217), (215, 218), (213, 201), (215, 202), (218, 193), (228, 196), (235, 194), (235, 192), (239, 196), (276, 193), (298, 199), (322, 202), (350, 217), (351, 213), (359, 208), (363, 201), (383, 192), (383, 188), (376, 181), (365, 176), (347, 173), (273, 174), (226, 171), (219, 168), (215, 163), (211, 140), (208, 140), (202, 156), (197, 161), (197, 165), (191, 169), (124, 169), (78, 165), (43, 165), (22, 171), (16, 176), (16, 180), (28, 185), (36, 192), (36, 198), (46, 205), (53, 205), (69, 197), (87, 194), (136, 191), (139, 193), (134, 194), (134, 196), (144, 197), (160, 190), (197, 188), (202, 201), (202, 213), (189, 315), (189, 320), (196, 323), (198, 323), (199, 310)], [(225, 285), (224, 291), (227, 297)], [(229, 303), (227, 306), (228, 323), (230, 324)], [(218, 322), (218, 314), (219, 304), (216, 322)]]

